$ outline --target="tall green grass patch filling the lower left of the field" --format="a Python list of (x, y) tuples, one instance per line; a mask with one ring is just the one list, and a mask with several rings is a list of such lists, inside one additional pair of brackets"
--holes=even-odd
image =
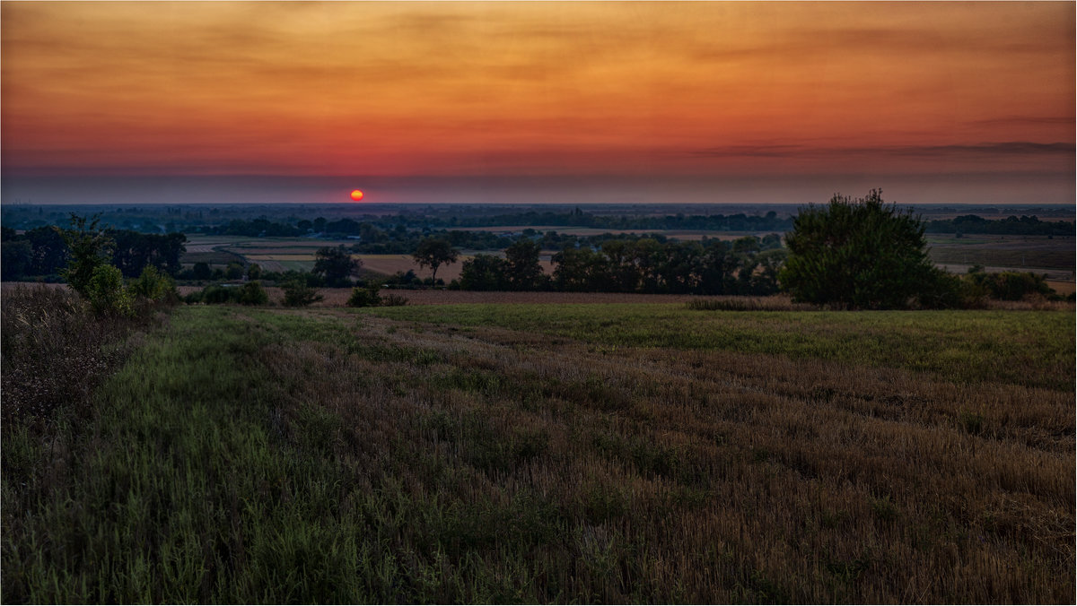
[[(403, 497), (342, 485), (341, 463), (318, 456), (339, 419), (302, 404), (283, 418), (286, 396), (256, 357), (283, 335), (226, 309), (180, 310), (100, 391), (92, 433), (60, 422), (64, 482), (34, 475), (30, 462), (54, 453), (16, 435), (4, 602), (403, 595), (405, 564), (383, 549), (393, 526), (364, 522), (391, 519)], [(18, 480), (33, 483), (23, 498)], [(341, 498), (362, 515), (332, 513)], [(16, 518), (16, 503), (33, 517)]]

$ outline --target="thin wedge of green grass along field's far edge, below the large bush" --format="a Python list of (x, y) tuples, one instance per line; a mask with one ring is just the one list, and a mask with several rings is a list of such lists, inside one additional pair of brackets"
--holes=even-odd
[(1073, 389), (1068, 311), (697, 311), (674, 304), (370, 309), (402, 321), (501, 326), (604, 346), (722, 350)]

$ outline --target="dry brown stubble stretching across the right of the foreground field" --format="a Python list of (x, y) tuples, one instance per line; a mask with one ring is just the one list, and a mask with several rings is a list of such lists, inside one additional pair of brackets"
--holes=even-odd
[(416, 503), (542, 495), (540, 601), (1074, 600), (1072, 392), (376, 318), (347, 341), (263, 355), (363, 483), (408, 445)]

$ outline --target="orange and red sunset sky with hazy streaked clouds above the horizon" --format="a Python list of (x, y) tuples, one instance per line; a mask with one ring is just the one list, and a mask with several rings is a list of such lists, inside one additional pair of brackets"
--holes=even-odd
[(11, 2), (4, 203), (1073, 203), (1074, 2)]

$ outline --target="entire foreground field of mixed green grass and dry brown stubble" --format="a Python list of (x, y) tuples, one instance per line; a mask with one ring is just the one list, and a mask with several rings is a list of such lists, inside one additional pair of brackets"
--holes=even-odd
[[(178, 310), (4, 474), (4, 602), (1074, 600), (1072, 364), (647, 342), (680, 314), (774, 340), (672, 306), (374, 314), (410, 311)], [(774, 318), (942, 330), (857, 316)], [(1073, 347), (1072, 318), (967, 318)]]

